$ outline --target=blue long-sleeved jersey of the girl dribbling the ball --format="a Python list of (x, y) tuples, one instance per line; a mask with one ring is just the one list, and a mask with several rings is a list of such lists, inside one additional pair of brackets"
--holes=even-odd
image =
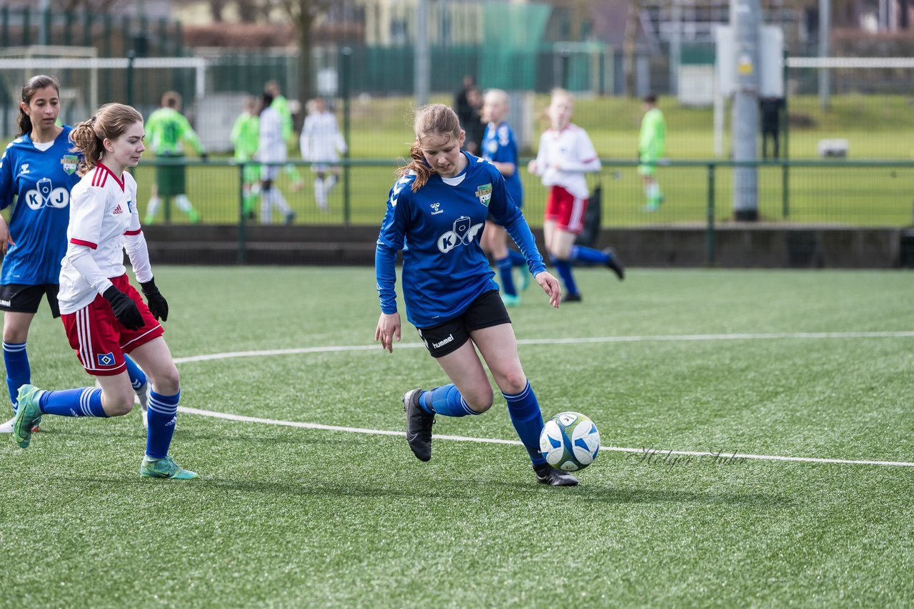
[(397, 251), (403, 250), (403, 298), (407, 320), (429, 328), (461, 315), (481, 294), (498, 289), (479, 238), (485, 218), (505, 226), (526, 257), (530, 273), (544, 270), (543, 257), (526, 219), (492, 163), (468, 152), (462, 173), (434, 173), (419, 191), (415, 174), (390, 189), (388, 210), (377, 237), (377, 295), (384, 313), (397, 312)]

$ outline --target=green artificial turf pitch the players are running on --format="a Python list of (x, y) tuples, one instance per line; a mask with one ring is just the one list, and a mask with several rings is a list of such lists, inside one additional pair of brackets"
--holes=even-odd
[[(155, 274), (186, 407), (399, 434), (403, 392), (444, 383), (410, 326), (392, 354), (372, 341), (370, 268)], [(188, 413), (172, 454), (201, 478), (149, 480), (137, 414), (46, 416), (27, 450), (0, 437), (0, 605), (909, 604), (911, 467), (638, 453), (914, 461), (910, 272), (579, 283), (578, 305), (511, 310), (544, 413), (633, 450), (602, 451), (579, 487), (537, 485), (520, 446), (439, 438), (423, 464), (398, 435)], [(47, 312), (34, 382), (87, 383)], [(515, 439), (501, 397), (434, 431)]]

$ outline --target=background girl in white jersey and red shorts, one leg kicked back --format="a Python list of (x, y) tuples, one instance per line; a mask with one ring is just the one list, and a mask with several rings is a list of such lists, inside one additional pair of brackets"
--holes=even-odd
[(620, 279), (625, 268), (615, 251), (576, 246), (575, 238), (584, 228), (588, 187), (585, 173), (600, 171), (600, 158), (587, 131), (571, 123), (574, 97), (565, 89), (553, 89), (547, 114), (551, 128), (539, 138), (537, 158), (527, 165), (530, 173), (542, 176), (549, 187), (543, 236), (558, 277), (565, 284), (562, 302), (580, 302), (571, 263), (579, 260), (610, 268)]

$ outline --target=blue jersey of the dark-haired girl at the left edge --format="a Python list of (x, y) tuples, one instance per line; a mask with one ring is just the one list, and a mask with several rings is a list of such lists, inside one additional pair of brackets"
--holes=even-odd
[(29, 134), (20, 136), (0, 159), (0, 209), (16, 200), (0, 284), (59, 282), (60, 260), (67, 252), (69, 191), (80, 182), (80, 157), (69, 152), (70, 131), (64, 126), (45, 151), (35, 147)]

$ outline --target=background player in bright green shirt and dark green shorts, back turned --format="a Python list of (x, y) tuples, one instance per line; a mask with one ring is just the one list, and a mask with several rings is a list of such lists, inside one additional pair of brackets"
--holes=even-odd
[(181, 114), (181, 95), (176, 91), (166, 91), (162, 96), (162, 107), (149, 115), (145, 128), (149, 149), (155, 156), (182, 162), (176, 165), (159, 165), (155, 168), (155, 184), (149, 205), (146, 207), (145, 223), (154, 222), (159, 205), (162, 205), (160, 197), (174, 196), (177, 208), (196, 224), (200, 221), (200, 215), (194, 206), (190, 205), (190, 199), (186, 194), (184, 142), (194, 146), (203, 159), (207, 158), (207, 152), (200, 143), (197, 132)]

